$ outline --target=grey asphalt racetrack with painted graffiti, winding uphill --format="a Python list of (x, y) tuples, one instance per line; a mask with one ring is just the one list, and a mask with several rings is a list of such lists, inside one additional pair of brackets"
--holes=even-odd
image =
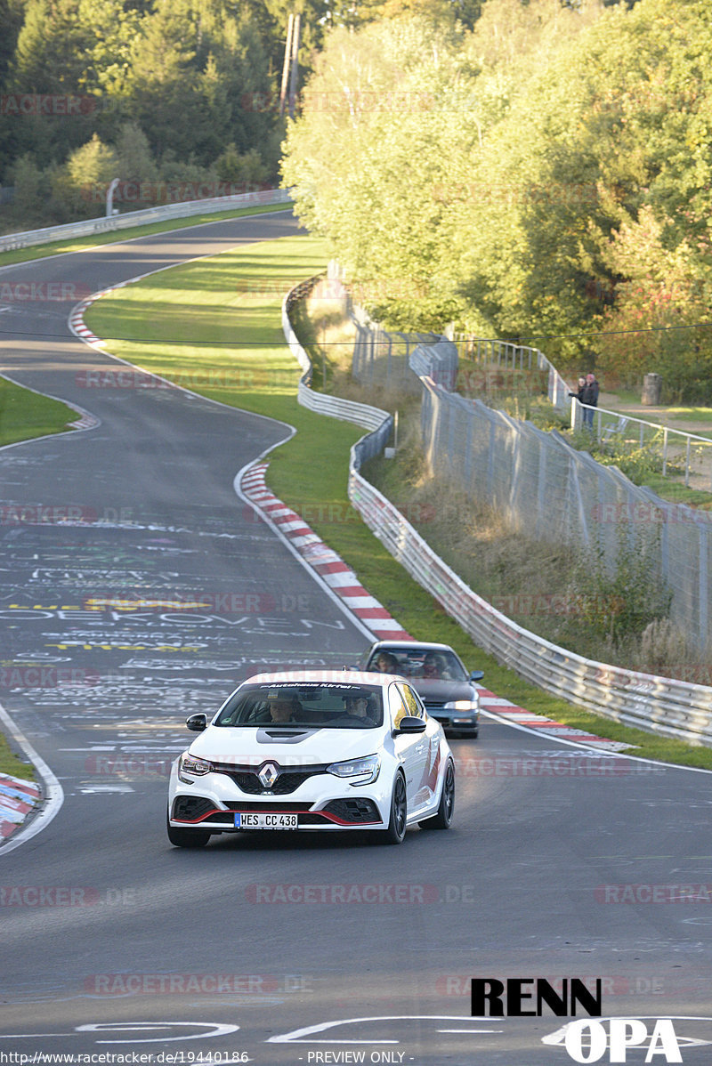
[[(0, 277), (96, 291), (293, 232), (285, 214), (220, 222)], [(79, 371), (116, 365), (69, 334), (67, 311), (0, 314), (3, 372), (100, 419), (0, 451), (3, 501), (54, 519), (5, 512), (0, 527), (1, 658), (20, 672), (3, 702), (65, 793), (42, 833), (0, 850), (0, 1053), (570, 1061), (541, 1043), (561, 1024), (550, 1015), (470, 1019), (470, 976), (602, 978), (604, 1014), (712, 1017), (706, 774), (486, 721), (453, 745), (449, 834), (167, 844), (185, 715), (258, 662), (340, 664), (367, 636), (234, 497), (237, 470), (286, 427), (180, 390), (81, 389)], [(84, 520), (67, 523), (68, 507)], [(228, 594), (245, 610), (226, 613)], [(160, 603), (178, 596), (213, 608)], [(159, 603), (85, 610), (102, 599)], [(60, 671), (74, 683), (58, 687)], [(708, 1021), (676, 1027), (712, 1039)], [(709, 1062), (707, 1046), (684, 1062)]]

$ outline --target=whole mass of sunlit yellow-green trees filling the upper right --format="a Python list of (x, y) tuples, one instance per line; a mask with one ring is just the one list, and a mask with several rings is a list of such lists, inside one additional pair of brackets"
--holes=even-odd
[[(486, 0), (472, 30), (401, 13), (327, 38), (285, 176), (354, 276), (411, 284), (392, 323), (712, 402), (711, 51), (705, 0)], [(416, 86), (437, 107), (357, 106)]]

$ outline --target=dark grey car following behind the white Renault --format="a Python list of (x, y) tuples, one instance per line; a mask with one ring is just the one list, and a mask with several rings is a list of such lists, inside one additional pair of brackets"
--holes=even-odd
[(480, 696), (474, 682), (482, 678), (483, 672), (468, 674), (450, 645), (377, 641), (361, 656), (358, 669), (406, 677), (427, 713), (446, 729), (478, 736)]

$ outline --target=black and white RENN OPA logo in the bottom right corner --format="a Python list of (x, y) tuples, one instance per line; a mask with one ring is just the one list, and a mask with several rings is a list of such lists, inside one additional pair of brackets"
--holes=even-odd
[[(472, 1016), (480, 1018), (540, 1018), (545, 1006), (555, 1017), (576, 1017), (580, 1008), (588, 1018), (569, 1022), (546, 1043), (564, 1044), (576, 1063), (597, 1063), (608, 1052), (609, 1063), (625, 1063), (627, 1051), (646, 1049), (644, 1062), (681, 1063), (682, 1055), (670, 1018), (652, 1019), (652, 1032), (640, 1018), (601, 1018), (602, 979), (596, 990), (580, 978), (563, 978), (555, 987), (544, 978), (472, 978)], [(647, 1041), (647, 1043), (646, 1043)]]

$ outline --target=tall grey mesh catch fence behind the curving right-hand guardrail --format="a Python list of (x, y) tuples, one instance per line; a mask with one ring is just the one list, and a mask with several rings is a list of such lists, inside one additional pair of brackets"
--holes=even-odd
[[(376, 377), (394, 335), (389, 338), (381, 327), (372, 330), (368, 324), (361, 329), (365, 335), (373, 332), (373, 337), (371, 342), (367, 336), (357, 340), (353, 373), (368, 382)], [(468, 343), (470, 355), (476, 353), (476, 345)], [(482, 342), (483, 359), (486, 355), (491, 361), (499, 354), (511, 365), (515, 358), (523, 365), (531, 357), (532, 367), (541, 369), (537, 350), (505, 343), (492, 348), (492, 343)], [(434, 362), (434, 350), (448, 352), (446, 372), (440, 361)], [(363, 353), (373, 353), (366, 361), (366, 377)], [(570, 545), (584, 558), (601, 553), (611, 574), (624, 558), (644, 560), (648, 585), (669, 589), (671, 620), (694, 649), (706, 653), (712, 616), (712, 515), (668, 503), (634, 485), (615, 466), (602, 466), (587, 452), (573, 449), (556, 431), (544, 432), (453, 392), (457, 361), (456, 344), (439, 338), (437, 343), (431, 339), (417, 346), (407, 369), (404, 360), (390, 365), (391, 381), (398, 375), (410, 391), (418, 382), (422, 442), (435, 477), (495, 508), (522, 536)], [(561, 399), (563, 379), (548, 366)], [(566, 403), (570, 403), (568, 388)]]

